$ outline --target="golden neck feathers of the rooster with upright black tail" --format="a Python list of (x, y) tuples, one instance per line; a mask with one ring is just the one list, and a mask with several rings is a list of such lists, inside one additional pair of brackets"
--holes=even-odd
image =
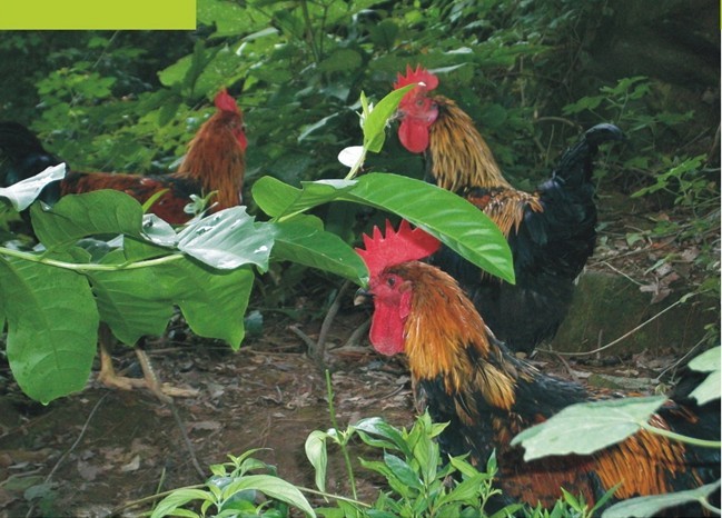
[(468, 187), (511, 188), (472, 118), (451, 99), (435, 100), (439, 112), (431, 128), (429, 153), (436, 185), (452, 192)]

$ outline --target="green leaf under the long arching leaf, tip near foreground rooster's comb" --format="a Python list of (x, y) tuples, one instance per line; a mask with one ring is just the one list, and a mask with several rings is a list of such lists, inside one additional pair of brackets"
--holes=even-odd
[(274, 260), (298, 262), (359, 285), (367, 282), (368, 270), (358, 253), (338, 236), (325, 231), (319, 220), (303, 217), (267, 225), (275, 238)]

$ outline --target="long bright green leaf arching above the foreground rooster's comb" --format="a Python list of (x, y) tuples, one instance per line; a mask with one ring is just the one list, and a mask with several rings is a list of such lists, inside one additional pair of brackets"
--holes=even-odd
[(281, 221), (336, 200), (386, 210), (422, 227), (489, 273), (514, 282), (512, 253), (496, 225), (465, 199), (424, 181), (368, 173), (358, 180), (303, 182), (297, 189), (266, 177), (254, 185), (254, 199)]

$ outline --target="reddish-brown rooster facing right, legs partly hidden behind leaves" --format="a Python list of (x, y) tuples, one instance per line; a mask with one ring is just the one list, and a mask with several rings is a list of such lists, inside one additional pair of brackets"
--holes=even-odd
[[(188, 151), (178, 170), (171, 175), (140, 176), (110, 172), (78, 172), (48, 186), (41, 199), (52, 203), (61, 196), (112, 189), (130, 195), (145, 203), (158, 192), (149, 211), (168, 221), (180, 225), (192, 218), (186, 207), (191, 195), (214, 193), (209, 211), (235, 207), (241, 203), (241, 189), (246, 170), (246, 139), (243, 113), (236, 100), (224, 89), (215, 98), (217, 108), (188, 145)], [(38, 138), (16, 122), (0, 122), (0, 180), (8, 186), (30, 178), (44, 168), (62, 160), (46, 151)], [(150, 362), (140, 348), (136, 353), (145, 372), (145, 379), (118, 376), (107, 351), (110, 331), (100, 329), (100, 362), (98, 379), (109, 387), (130, 389), (145, 385), (159, 398), (167, 400), (167, 394), (187, 395), (172, 387), (161, 389), (152, 373)]]

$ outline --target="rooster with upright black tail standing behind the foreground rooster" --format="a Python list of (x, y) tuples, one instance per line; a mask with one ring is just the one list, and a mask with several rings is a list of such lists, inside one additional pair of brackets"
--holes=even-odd
[(498, 226), (512, 249), (516, 285), (484, 275), (445, 247), (432, 262), (461, 282), (496, 336), (528, 353), (556, 333), (574, 280), (594, 251), (592, 160), (601, 143), (622, 139), (622, 132), (613, 124), (593, 127), (563, 153), (552, 178), (524, 192), (506, 181), (471, 117), (453, 100), (431, 93), (436, 76), (408, 67), (394, 88), (412, 83), (419, 86), (397, 111), (402, 145), (425, 153), (428, 181), (466, 198)]

